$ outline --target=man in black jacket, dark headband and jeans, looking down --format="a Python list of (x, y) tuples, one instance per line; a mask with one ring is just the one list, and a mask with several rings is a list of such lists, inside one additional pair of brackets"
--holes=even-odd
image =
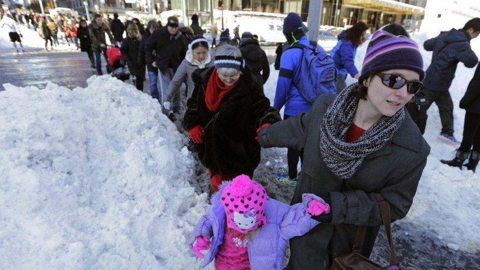
[[(173, 100), (163, 100), (163, 93), (168, 90), (180, 62), (185, 58), (186, 51), (185, 38), (179, 31), (179, 20), (173, 16), (168, 17), (167, 27), (155, 30), (145, 42), (147, 63), (160, 70), (160, 104), (170, 101), (174, 113), (178, 113), (180, 109), (180, 91)], [(167, 110), (164, 112), (169, 113)]]

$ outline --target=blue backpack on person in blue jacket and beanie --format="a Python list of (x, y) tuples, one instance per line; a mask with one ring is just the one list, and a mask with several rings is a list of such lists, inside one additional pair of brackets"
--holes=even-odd
[(335, 93), (336, 70), (333, 59), (323, 50), (297, 43), (291, 48), (302, 50), (300, 65), (296, 68), (292, 83), (309, 103), (315, 102), (321, 93)]

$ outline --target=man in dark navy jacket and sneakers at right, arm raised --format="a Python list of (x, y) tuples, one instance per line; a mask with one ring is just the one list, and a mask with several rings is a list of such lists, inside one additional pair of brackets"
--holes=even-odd
[(423, 48), (433, 51), (433, 55), (423, 81), (422, 93), (428, 102), (423, 106), (422, 114), (426, 115), (433, 102), (437, 104), (442, 120), (442, 131), (438, 138), (446, 143), (458, 144), (453, 136), (453, 102), (449, 88), (458, 62), (463, 62), (466, 67), (474, 67), (478, 63), (479, 59), (470, 47), (470, 40), (479, 33), (480, 18), (474, 18), (463, 29), (442, 32), (423, 43)]

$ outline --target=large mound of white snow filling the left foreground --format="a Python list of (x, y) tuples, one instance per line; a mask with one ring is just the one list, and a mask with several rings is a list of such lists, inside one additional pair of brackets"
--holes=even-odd
[(158, 103), (110, 77), (0, 93), (0, 269), (192, 269), (207, 209)]

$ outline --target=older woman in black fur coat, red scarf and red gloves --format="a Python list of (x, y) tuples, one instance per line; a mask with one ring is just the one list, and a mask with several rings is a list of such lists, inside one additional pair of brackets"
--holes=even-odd
[(217, 47), (213, 63), (192, 73), (195, 88), (182, 124), (197, 144), (199, 159), (217, 191), (224, 180), (253, 176), (260, 163), (256, 131), (280, 120), (280, 115), (270, 106), (238, 47)]

